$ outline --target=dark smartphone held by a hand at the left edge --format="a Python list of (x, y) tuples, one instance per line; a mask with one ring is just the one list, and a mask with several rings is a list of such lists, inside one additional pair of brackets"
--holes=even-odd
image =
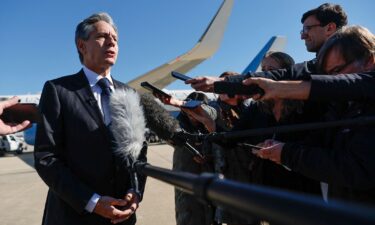
[(0, 119), (4, 123), (22, 123), (29, 120), (31, 123), (40, 121), (38, 106), (34, 103), (18, 103), (3, 110)]

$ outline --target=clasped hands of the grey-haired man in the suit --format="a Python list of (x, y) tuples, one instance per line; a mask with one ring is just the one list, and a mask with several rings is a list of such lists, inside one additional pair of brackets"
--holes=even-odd
[(96, 203), (94, 213), (110, 220), (119, 218), (127, 219), (129, 217), (128, 213), (116, 208), (126, 206), (127, 204), (128, 202), (123, 199), (112, 198), (110, 196), (101, 196), (99, 201)]

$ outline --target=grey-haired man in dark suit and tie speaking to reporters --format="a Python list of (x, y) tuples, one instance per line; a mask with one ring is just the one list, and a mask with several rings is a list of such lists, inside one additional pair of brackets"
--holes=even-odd
[(43, 224), (135, 224), (141, 196), (111, 149), (103, 95), (128, 88), (110, 74), (118, 53), (111, 17), (93, 14), (79, 23), (76, 46), (82, 70), (47, 81), (39, 105), (35, 168), (49, 187)]

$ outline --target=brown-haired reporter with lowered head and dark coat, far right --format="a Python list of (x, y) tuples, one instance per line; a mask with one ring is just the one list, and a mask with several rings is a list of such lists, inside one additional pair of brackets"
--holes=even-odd
[[(321, 60), (321, 69), (327, 73), (363, 73), (375, 72), (375, 37), (367, 29), (360, 26), (352, 26), (338, 31), (323, 46), (318, 57)], [(341, 77), (336, 75), (332, 77)], [(282, 92), (287, 85), (298, 87), (301, 91), (305, 83), (284, 82), (283, 88), (277, 88), (280, 82), (270, 83), (268, 80), (257, 79), (259, 84), (267, 83), (272, 86), (273, 94)], [(349, 81), (348, 81), (349, 82)], [(350, 82), (355, 82), (350, 80)], [(311, 86), (312, 87), (312, 86)], [(358, 86), (360, 87), (360, 86)], [(270, 88), (270, 89), (272, 89)], [(321, 87), (322, 88), (322, 87)], [(335, 85), (326, 84), (317, 92), (309, 91), (308, 98), (314, 98), (313, 94), (323, 93), (327, 96), (320, 97), (331, 99), (332, 95), (349, 95), (352, 91), (336, 88)], [(297, 91), (297, 93), (298, 93)], [(267, 92), (267, 91), (266, 91)], [(305, 91), (307, 92), (307, 91)], [(289, 96), (291, 97), (293, 93)], [(305, 93), (306, 94), (306, 93)], [(357, 93), (352, 92), (353, 95)], [(275, 95), (276, 96), (276, 95)], [(273, 97), (275, 97), (273, 96)], [(272, 97), (272, 96), (271, 96)], [(295, 97), (295, 96), (294, 96)], [(315, 100), (317, 98), (314, 98)], [(374, 116), (375, 105), (371, 98), (361, 98), (355, 101), (332, 101), (330, 110), (325, 114), (325, 120), (340, 120), (361, 116)], [(373, 126), (345, 126), (320, 132), (323, 139), (311, 136), (310, 140), (319, 144), (319, 147), (311, 147), (306, 144), (273, 142), (268, 147), (254, 152), (259, 157), (281, 163), (292, 171), (301, 173), (307, 177), (329, 184), (329, 199), (340, 198), (358, 201), (361, 203), (375, 204), (375, 154), (373, 151), (375, 129)], [(319, 142), (319, 143), (318, 143)]]

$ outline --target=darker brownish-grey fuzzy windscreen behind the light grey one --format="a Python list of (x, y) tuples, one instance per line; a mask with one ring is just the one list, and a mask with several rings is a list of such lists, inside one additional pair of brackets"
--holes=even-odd
[(160, 138), (171, 140), (180, 129), (178, 121), (157, 103), (151, 94), (142, 94), (141, 104), (146, 118), (146, 126)]

